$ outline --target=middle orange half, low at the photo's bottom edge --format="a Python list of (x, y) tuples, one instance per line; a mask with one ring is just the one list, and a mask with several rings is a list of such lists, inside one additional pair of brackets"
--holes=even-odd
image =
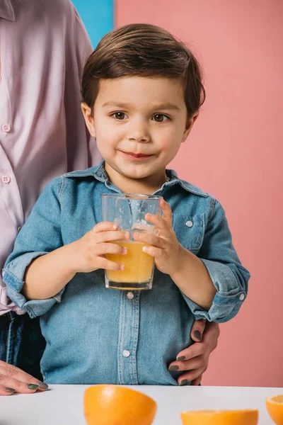
[(256, 425), (258, 410), (192, 410), (181, 418), (183, 425)]

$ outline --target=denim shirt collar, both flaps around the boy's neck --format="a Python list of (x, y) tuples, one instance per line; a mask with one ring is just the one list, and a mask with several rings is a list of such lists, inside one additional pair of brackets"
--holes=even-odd
[[(83, 177), (90, 177), (93, 176), (94, 179), (100, 181), (101, 183), (106, 183), (108, 181), (108, 175), (105, 171), (104, 167), (105, 162), (101, 161), (98, 166), (93, 166), (90, 169), (87, 170), (79, 170), (79, 171), (71, 171), (70, 173), (64, 174), (65, 177), (76, 177), (76, 178), (83, 178)], [(166, 175), (168, 177), (166, 183), (163, 184), (162, 188), (165, 188), (167, 186), (174, 186), (175, 184), (179, 184), (182, 186), (185, 191), (194, 193), (195, 195), (203, 196), (204, 198), (207, 198), (208, 194), (202, 189), (198, 188), (197, 186), (194, 186), (193, 184), (189, 183), (188, 181), (181, 180), (178, 178), (178, 175), (176, 171), (166, 169)]]

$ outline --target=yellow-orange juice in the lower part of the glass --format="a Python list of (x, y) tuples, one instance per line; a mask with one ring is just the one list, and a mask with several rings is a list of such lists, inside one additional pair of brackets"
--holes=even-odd
[(154, 257), (146, 254), (142, 248), (146, 244), (136, 241), (115, 242), (127, 248), (127, 254), (106, 254), (106, 258), (115, 263), (124, 264), (121, 271), (106, 271), (110, 288), (146, 289), (151, 283), (154, 271)]

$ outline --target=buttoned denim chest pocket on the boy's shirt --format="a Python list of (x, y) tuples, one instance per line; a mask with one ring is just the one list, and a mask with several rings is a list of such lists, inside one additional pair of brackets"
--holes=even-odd
[(173, 214), (173, 229), (185, 249), (199, 251), (204, 239), (204, 214)]

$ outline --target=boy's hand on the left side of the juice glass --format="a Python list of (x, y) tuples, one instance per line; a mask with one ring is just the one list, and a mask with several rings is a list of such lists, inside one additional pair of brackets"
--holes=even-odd
[(118, 226), (110, 222), (100, 222), (81, 239), (73, 242), (72, 267), (77, 272), (88, 273), (98, 268), (123, 270), (122, 264), (105, 258), (105, 254), (127, 254), (127, 249), (114, 243), (129, 239), (129, 232), (117, 230)]

